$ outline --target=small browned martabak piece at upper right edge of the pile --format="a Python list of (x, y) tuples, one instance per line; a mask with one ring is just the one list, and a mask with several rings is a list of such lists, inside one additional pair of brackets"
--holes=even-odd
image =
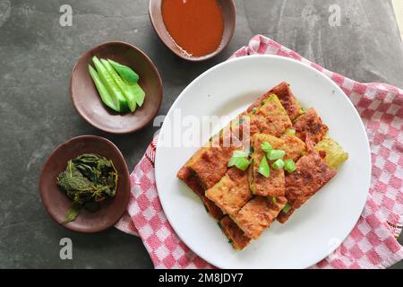
[(314, 144), (321, 142), (329, 130), (313, 108), (308, 109), (303, 116), (296, 120), (294, 129), (300, 139), (306, 141), (306, 137), (309, 136)]

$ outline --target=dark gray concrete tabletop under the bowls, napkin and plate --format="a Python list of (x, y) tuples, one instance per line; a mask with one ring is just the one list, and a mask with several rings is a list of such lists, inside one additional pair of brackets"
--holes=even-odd
[[(62, 4), (73, 26), (59, 25)], [(330, 4), (341, 25), (330, 27)], [(141, 48), (156, 63), (165, 87), (160, 114), (197, 75), (227, 59), (262, 33), (330, 70), (362, 82), (403, 86), (403, 48), (385, 0), (236, 0), (236, 33), (225, 52), (187, 63), (165, 48), (150, 26), (147, 0), (0, 0), (0, 267), (150, 268), (140, 239), (118, 230), (83, 235), (65, 230), (39, 200), (39, 172), (47, 154), (75, 135), (102, 135), (124, 152), (130, 169), (155, 128), (107, 135), (73, 110), (68, 82), (86, 49), (118, 39)], [(73, 239), (73, 260), (59, 258), (59, 240)], [(397, 265), (403, 267), (403, 264)]]

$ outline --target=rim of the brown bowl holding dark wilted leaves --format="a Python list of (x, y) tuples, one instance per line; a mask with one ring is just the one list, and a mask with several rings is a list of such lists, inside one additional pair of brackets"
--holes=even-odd
[(100, 231), (103, 230), (107, 230), (108, 228), (112, 227), (113, 225), (115, 225), (116, 222), (118, 222), (120, 220), (120, 218), (122, 218), (122, 216), (124, 215), (124, 212), (126, 211), (126, 209), (124, 208), (123, 211), (121, 213), (118, 213), (119, 216), (117, 217), (116, 222), (109, 224), (109, 225), (104, 225), (101, 226), (100, 228), (96, 228), (96, 229), (86, 229), (86, 230), (81, 230), (79, 228), (74, 228), (73, 226), (69, 225), (69, 224), (61, 224), (60, 222), (58, 222), (56, 220), (55, 214), (52, 212), (52, 205), (51, 204), (46, 204), (45, 201), (43, 200), (44, 198), (44, 193), (45, 191), (43, 190), (43, 186), (44, 186), (44, 180), (45, 178), (43, 177), (45, 174), (45, 170), (47, 169), (47, 165), (50, 163), (50, 159), (52, 157), (55, 156), (56, 152), (59, 152), (64, 145), (70, 144), (74, 141), (83, 141), (86, 139), (93, 139), (93, 140), (97, 140), (100, 142), (104, 142), (107, 143), (107, 145), (109, 145), (112, 150), (114, 152), (116, 152), (116, 156), (119, 159), (119, 161), (124, 162), (124, 176), (126, 178), (126, 184), (129, 187), (128, 190), (124, 191), (124, 206), (127, 206), (127, 204), (129, 203), (129, 199), (130, 199), (130, 172), (129, 172), (129, 168), (127, 167), (127, 162), (124, 159), (124, 155), (123, 153), (119, 150), (119, 148), (116, 146), (115, 143), (113, 143), (112, 141), (108, 140), (105, 137), (99, 136), (99, 135), (78, 135), (78, 136), (74, 136), (66, 141), (64, 141), (63, 143), (60, 143), (56, 146), (56, 148), (49, 153), (49, 155), (47, 156), (47, 160), (45, 161), (45, 163), (42, 166), (42, 169), (40, 171), (40, 175), (39, 175), (39, 197), (40, 197), (40, 201), (43, 205), (43, 208), (45, 209), (45, 211), (47, 212), (47, 214), (58, 224), (61, 225), (62, 227), (68, 229), (68, 230), (73, 230), (75, 232), (79, 232), (79, 233), (98, 233)]

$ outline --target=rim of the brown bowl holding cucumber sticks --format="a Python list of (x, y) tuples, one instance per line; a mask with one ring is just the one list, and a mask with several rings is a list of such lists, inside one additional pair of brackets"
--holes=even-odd
[[(153, 70), (153, 72), (157, 75), (157, 85), (159, 86), (160, 89), (160, 95), (159, 95), (159, 103), (158, 103), (158, 107), (155, 111), (155, 113), (153, 113), (152, 115), (150, 114), (150, 119), (147, 120), (143, 125), (141, 126), (137, 126), (135, 128), (129, 128), (127, 130), (124, 131), (119, 131), (119, 130), (115, 130), (115, 129), (110, 129), (104, 126), (98, 126), (95, 125), (92, 120), (90, 119), (90, 117), (85, 116), (82, 112), (81, 109), (79, 109), (77, 107), (77, 104), (74, 100), (73, 97), (73, 74), (75, 72), (75, 70), (78, 68), (78, 65), (81, 63), (81, 60), (87, 55), (87, 54), (91, 54), (95, 51), (97, 51), (99, 48), (105, 47), (107, 45), (123, 45), (123, 46), (127, 46), (131, 49), (133, 49), (136, 53), (140, 54), (141, 57), (144, 57), (146, 62), (148, 63), (148, 65), (150, 65), (151, 69)], [(133, 44), (130, 44), (128, 42), (124, 42), (124, 41), (119, 41), (119, 40), (109, 40), (103, 43), (100, 43), (97, 46), (94, 46), (88, 50), (86, 50), (85, 52), (83, 52), (81, 54), (81, 56), (78, 58), (77, 62), (75, 63), (75, 65), (73, 66), (73, 70), (70, 74), (70, 81), (69, 81), (69, 92), (70, 92), (70, 99), (72, 100), (73, 103), (73, 107), (76, 110), (76, 112), (87, 122), (90, 124), (90, 126), (93, 126), (103, 132), (112, 134), (112, 135), (129, 135), (129, 134), (133, 134), (135, 132), (140, 131), (142, 128), (144, 128), (145, 126), (148, 126), (150, 124), (150, 122), (154, 119), (154, 117), (157, 116), (157, 114), (159, 113), (159, 109), (161, 108), (161, 104), (162, 104), (162, 100), (164, 99), (164, 86), (162, 84), (162, 79), (161, 79), (161, 75), (159, 74), (159, 70), (157, 69), (157, 65), (154, 64), (154, 62), (150, 59), (149, 56), (147, 56), (146, 53), (144, 53), (140, 48), (135, 47)]]

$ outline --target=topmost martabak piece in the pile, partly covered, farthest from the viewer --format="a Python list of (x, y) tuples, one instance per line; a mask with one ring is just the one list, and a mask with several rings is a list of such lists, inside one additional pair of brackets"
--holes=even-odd
[(268, 99), (272, 94), (277, 95), (291, 120), (295, 120), (296, 117), (301, 116), (301, 106), (298, 100), (296, 100), (294, 93), (291, 91), (289, 84), (285, 82), (279, 83), (279, 85), (266, 92), (259, 100), (253, 103), (253, 105), (248, 109), (248, 112), (252, 112), (253, 109), (258, 108), (262, 100)]

